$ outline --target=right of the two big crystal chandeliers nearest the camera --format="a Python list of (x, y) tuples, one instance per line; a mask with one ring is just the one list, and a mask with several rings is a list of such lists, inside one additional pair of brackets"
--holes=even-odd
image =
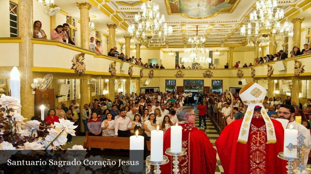
[[(247, 37), (248, 43), (258, 42), (260, 37), (279, 35), (284, 41), (284, 37), (293, 36), (293, 24), (287, 21), (281, 26), (279, 20), (284, 18), (283, 9), (277, 8), (276, 0), (261, 0), (256, 2), (256, 10), (249, 15), (251, 23), (242, 25), (241, 35)], [(252, 24), (255, 29), (252, 29)]]

